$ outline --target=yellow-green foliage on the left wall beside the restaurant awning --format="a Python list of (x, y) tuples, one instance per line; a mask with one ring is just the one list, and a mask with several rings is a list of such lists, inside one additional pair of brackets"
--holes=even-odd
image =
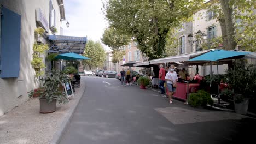
[(40, 57), (40, 53), (44, 53), (45, 50), (48, 50), (47, 44), (33, 44), (33, 59), (31, 61), (31, 65), (36, 71), (36, 77), (43, 75), (43, 71), (41, 71), (42, 68), (45, 68), (45, 64), (43, 63), (43, 58)]

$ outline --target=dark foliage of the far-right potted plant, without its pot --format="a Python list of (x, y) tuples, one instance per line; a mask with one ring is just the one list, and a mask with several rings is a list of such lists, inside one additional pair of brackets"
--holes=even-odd
[(245, 61), (235, 63), (235, 68), (228, 70), (226, 81), (229, 83), (235, 94), (241, 94), (237, 101), (256, 95), (256, 67)]

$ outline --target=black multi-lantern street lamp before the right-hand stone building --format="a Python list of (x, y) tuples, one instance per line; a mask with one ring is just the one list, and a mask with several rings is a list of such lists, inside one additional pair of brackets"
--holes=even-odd
[(197, 31), (195, 34), (196, 34), (196, 36), (195, 36), (196, 39), (194, 39), (194, 40), (193, 40), (193, 34), (190, 33), (188, 35), (189, 45), (191, 45), (191, 52), (193, 52), (193, 44), (194, 43), (196, 44), (196, 51), (199, 51), (198, 46), (199, 46), (199, 44), (202, 44), (201, 37), (203, 37), (203, 40), (206, 38), (206, 34), (200, 30)]

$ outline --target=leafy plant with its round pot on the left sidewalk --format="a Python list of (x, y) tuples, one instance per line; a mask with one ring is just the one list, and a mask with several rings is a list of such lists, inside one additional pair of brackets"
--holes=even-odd
[[(40, 91), (37, 91), (38, 98), (40, 101), (40, 113), (51, 113), (56, 111), (56, 103), (67, 103), (68, 98), (63, 91), (62, 83), (69, 81), (69, 77), (55, 70), (51, 75), (46, 75), (41, 78)], [(28, 96), (31, 98), (34, 95), (34, 89), (31, 90)]]

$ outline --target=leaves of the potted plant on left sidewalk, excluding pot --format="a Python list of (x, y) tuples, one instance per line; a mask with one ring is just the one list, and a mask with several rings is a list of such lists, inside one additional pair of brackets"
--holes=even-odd
[(45, 99), (50, 103), (53, 99), (57, 99), (59, 103), (67, 103), (68, 98), (65, 91), (60, 87), (62, 83), (69, 82), (69, 77), (66, 74), (61, 73), (61, 71), (55, 70), (46, 77), (40, 79), (42, 86), (40, 91), (35, 92), (34, 89), (28, 92), (28, 97), (32, 97), (33, 94), (37, 93), (39, 99)]

